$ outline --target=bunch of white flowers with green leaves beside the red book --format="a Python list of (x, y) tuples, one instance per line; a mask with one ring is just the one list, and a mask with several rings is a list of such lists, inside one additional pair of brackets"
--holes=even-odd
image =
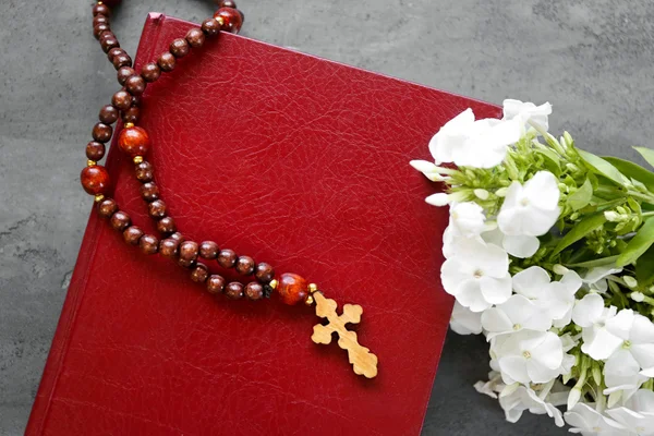
[(450, 326), (485, 335), (492, 372), (475, 388), (508, 421), (529, 410), (583, 435), (654, 435), (654, 173), (557, 140), (550, 113), (468, 109), (431, 141), (435, 162), (411, 162), (446, 186), (426, 202), (449, 206)]

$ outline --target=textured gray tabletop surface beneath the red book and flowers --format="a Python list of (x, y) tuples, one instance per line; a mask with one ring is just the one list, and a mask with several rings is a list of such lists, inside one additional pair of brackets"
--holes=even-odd
[[(243, 35), (501, 102), (549, 100), (553, 131), (597, 153), (652, 145), (649, 0), (240, 0)], [(90, 208), (84, 145), (114, 71), (90, 36), (89, 1), (0, 2), (0, 434), (23, 432)], [(148, 11), (199, 21), (208, 0), (126, 0), (114, 29), (130, 53)], [(472, 384), (481, 338), (448, 337), (425, 435), (562, 435), (504, 421)]]

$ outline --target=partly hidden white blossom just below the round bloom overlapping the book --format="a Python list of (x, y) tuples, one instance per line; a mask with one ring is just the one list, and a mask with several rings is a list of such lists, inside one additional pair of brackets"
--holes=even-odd
[(482, 314), (482, 326), (491, 340), (498, 335), (507, 335), (523, 329), (547, 331), (552, 318), (547, 312), (522, 295), (511, 295), (505, 303), (491, 307)]

